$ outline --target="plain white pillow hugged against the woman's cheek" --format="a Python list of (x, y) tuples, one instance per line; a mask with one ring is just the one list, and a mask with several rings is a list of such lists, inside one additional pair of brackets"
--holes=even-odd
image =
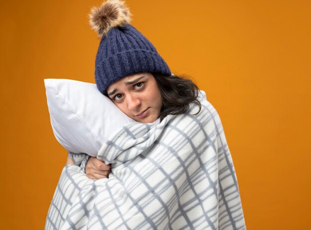
[(109, 135), (134, 121), (95, 84), (68, 79), (45, 79), (44, 84), (54, 135), (70, 152), (96, 156)]

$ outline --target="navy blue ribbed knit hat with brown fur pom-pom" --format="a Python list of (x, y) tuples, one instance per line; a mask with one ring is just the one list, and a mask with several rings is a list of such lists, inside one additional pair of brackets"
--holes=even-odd
[(121, 0), (107, 0), (91, 10), (90, 24), (101, 41), (95, 60), (98, 90), (107, 88), (125, 76), (154, 72), (171, 75), (153, 44), (129, 24), (131, 14)]

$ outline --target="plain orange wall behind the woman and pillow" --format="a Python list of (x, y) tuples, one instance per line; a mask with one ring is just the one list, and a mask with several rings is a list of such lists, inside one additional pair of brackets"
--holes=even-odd
[[(1, 1), (1, 229), (44, 228), (67, 151), (43, 79), (94, 83), (87, 14), (100, 3)], [(310, 228), (311, 1), (127, 3), (172, 72), (191, 75), (218, 111), (247, 228)]]

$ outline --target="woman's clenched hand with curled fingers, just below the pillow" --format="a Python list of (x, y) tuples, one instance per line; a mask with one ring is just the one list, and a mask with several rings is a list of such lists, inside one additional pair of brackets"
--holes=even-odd
[(93, 156), (88, 159), (85, 166), (85, 174), (90, 179), (107, 178), (110, 172), (109, 164), (107, 165)]

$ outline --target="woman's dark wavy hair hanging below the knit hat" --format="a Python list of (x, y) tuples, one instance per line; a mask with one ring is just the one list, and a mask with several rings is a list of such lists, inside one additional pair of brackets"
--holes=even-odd
[(197, 115), (201, 111), (199, 102), (199, 88), (188, 76), (163, 75), (152, 73), (156, 79), (157, 86), (161, 92), (163, 106), (160, 112), (160, 120), (165, 116), (184, 114), (189, 110), (189, 104), (193, 103), (199, 107)]

